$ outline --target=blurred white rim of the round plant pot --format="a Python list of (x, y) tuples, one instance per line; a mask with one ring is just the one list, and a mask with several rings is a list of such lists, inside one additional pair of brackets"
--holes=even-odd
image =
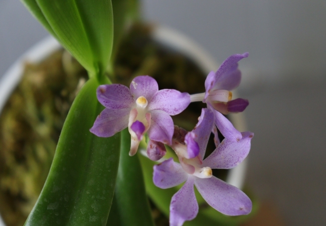
[[(164, 44), (167, 47), (171, 47), (172, 49), (176, 49), (188, 56), (207, 74), (212, 70), (217, 70), (219, 67), (217, 61), (203, 47), (177, 30), (162, 25), (156, 25), (152, 30), (152, 36), (154, 40), (158, 41), (159, 43)], [(54, 37), (49, 36), (44, 38), (28, 49), (5, 72), (0, 79), (0, 113), (8, 98), (19, 83), (24, 72), (25, 64), (27, 62), (39, 62), (59, 48), (61, 48), (61, 45)], [(236, 96), (236, 93), (233, 92), (233, 95)], [(244, 116), (242, 113), (231, 114), (230, 118), (233, 121), (236, 129), (239, 131), (246, 130)], [(239, 189), (242, 189), (246, 168), (247, 158), (237, 167), (229, 170), (226, 182), (238, 187)], [(0, 226), (5, 226), (1, 215)]]

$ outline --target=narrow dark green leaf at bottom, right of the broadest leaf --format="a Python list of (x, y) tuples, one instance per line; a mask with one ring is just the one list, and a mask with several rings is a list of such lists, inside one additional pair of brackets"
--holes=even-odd
[(130, 134), (121, 132), (121, 151), (114, 201), (107, 225), (153, 226), (138, 156), (129, 156)]

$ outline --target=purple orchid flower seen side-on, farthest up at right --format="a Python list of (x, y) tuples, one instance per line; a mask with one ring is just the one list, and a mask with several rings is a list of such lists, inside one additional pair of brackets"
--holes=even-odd
[(228, 57), (214, 72), (211, 71), (205, 80), (205, 93), (191, 95), (191, 101), (203, 101), (207, 107), (214, 112), (215, 124), (222, 135), (229, 140), (240, 140), (241, 133), (222, 115), (229, 112), (242, 112), (248, 106), (247, 99), (232, 99), (232, 92), (229, 90), (239, 86), (241, 72), (238, 69), (238, 62), (248, 57), (248, 53), (234, 54)]

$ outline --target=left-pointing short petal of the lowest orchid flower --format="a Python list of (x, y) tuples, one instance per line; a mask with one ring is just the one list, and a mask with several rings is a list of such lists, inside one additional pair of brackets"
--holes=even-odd
[(188, 178), (188, 173), (182, 168), (179, 163), (170, 158), (158, 165), (154, 166), (153, 183), (159, 188), (175, 187)]

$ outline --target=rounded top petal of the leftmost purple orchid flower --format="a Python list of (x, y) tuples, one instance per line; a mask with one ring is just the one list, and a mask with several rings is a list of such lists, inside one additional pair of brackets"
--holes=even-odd
[(130, 91), (134, 101), (139, 96), (144, 96), (149, 101), (158, 91), (158, 85), (156, 80), (148, 75), (137, 76), (130, 83)]

